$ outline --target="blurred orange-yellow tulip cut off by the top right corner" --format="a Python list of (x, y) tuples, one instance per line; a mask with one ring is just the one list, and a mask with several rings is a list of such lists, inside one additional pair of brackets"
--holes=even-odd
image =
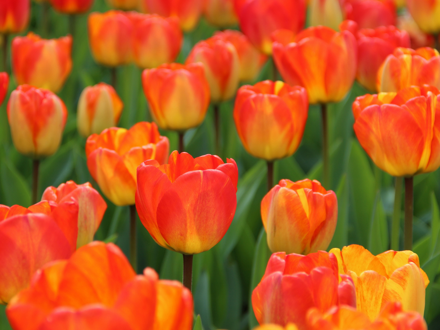
[(407, 8), (422, 31), (440, 31), (440, 0), (407, 0)]

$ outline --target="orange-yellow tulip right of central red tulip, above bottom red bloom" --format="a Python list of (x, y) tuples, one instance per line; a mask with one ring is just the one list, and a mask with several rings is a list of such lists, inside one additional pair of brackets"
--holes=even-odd
[(326, 250), (336, 229), (336, 194), (316, 180), (280, 180), (261, 201), (261, 219), (272, 252)]

